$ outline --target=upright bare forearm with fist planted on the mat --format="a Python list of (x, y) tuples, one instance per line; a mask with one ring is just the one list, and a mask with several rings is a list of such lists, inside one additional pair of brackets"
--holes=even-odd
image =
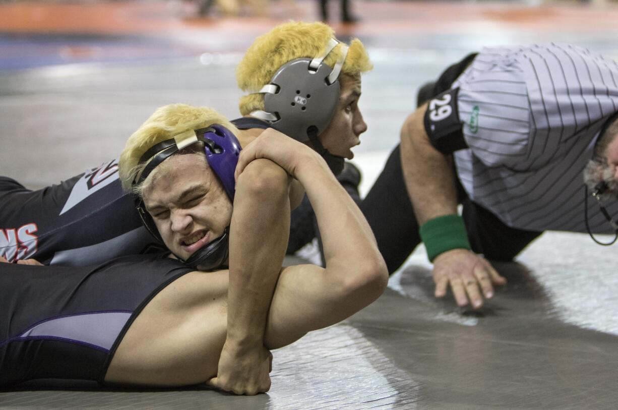
[(266, 317), (286, 254), (291, 178), (273, 161), (247, 166), (236, 182), (230, 231), (227, 340), (210, 384), (236, 394), (270, 388)]

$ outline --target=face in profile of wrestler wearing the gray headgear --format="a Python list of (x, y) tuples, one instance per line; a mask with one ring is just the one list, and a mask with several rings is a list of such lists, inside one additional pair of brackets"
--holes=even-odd
[(363, 114), (358, 108), (361, 93), (360, 75), (339, 77), (341, 94), (339, 103), (328, 127), (320, 134), (320, 142), (332, 155), (351, 160), (354, 154), (350, 148), (360, 144), (360, 134), (367, 130)]

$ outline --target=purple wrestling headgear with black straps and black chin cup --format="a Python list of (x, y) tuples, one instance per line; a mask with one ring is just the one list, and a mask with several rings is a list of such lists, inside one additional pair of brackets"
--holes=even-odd
[[(234, 171), (242, 148), (236, 136), (229, 129), (219, 124), (182, 132), (181, 134), (174, 135), (174, 137), (169, 140), (165, 140), (151, 147), (142, 155), (142, 158), (140, 158), (139, 163), (146, 163), (146, 166), (143, 168), (142, 172), (138, 173), (135, 179), (133, 179), (133, 186), (141, 184), (153, 169), (164, 160), (174, 155), (174, 153), (198, 141), (204, 143), (204, 151), (208, 165), (210, 165), (210, 168), (213, 169), (219, 181), (221, 181), (229, 199), (234, 202), (234, 193), (236, 190)], [(155, 221), (153, 221), (150, 213), (146, 211), (143, 199), (137, 197), (135, 202), (137, 211), (142, 218), (144, 226), (148, 229), (148, 232), (156, 237), (156, 239), (163, 242), (156, 228)], [(187, 260), (179, 258), (194, 268), (197, 268), (199, 265), (201, 270), (212, 270), (221, 267), (227, 259), (228, 241), (229, 226), (221, 236), (208, 242), (208, 244), (193, 253)]]

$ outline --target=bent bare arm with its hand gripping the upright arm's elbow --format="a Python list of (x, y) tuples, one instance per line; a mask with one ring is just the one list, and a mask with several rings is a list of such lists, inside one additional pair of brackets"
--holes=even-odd
[(268, 348), (279, 348), (370, 304), (384, 291), (387, 271), (371, 228), (320, 155), (269, 129), (243, 150), (237, 175), (255, 158), (272, 160), (303, 185), (326, 259), (326, 268), (301, 265), (282, 271), (265, 338)]

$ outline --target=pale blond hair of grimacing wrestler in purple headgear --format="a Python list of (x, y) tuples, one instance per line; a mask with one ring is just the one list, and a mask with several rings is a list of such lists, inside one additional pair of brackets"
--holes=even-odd
[[(118, 164), (122, 189), (132, 190), (133, 179), (146, 165), (146, 163), (138, 164), (140, 158), (151, 147), (182, 132), (208, 127), (212, 124), (221, 124), (234, 134), (238, 134), (236, 127), (212, 108), (171, 104), (156, 109), (155, 113), (137, 131), (133, 132), (122, 150)], [(192, 147), (185, 149), (188, 152), (195, 152)], [(135, 193), (141, 194), (142, 187), (146, 186), (150, 179), (151, 177), (148, 176), (145, 183), (138, 187)]]

